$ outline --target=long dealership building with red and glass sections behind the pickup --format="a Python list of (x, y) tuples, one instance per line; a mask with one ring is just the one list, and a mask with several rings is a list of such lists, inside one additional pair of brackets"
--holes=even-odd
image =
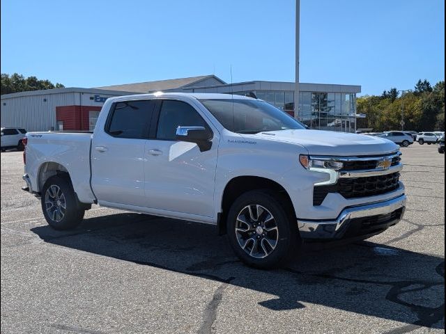
[(109, 97), (141, 93), (254, 93), (261, 100), (295, 116), (312, 129), (354, 132), (356, 94), (361, 86), (299, 84), (299, 109), (294, 111), (293, 82), (247, 81), (227, 84), (215, 75), (148, 81), (98, 88), (56, 88), (1, 95), (1, 127), (28, 131), (81, 130), (95, 127)]

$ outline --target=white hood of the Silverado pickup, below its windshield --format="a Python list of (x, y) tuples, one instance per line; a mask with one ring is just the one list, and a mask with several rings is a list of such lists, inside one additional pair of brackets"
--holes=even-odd
[(283, 141), (304, 146), (309, 154), (334, 156), (364, 156), (392, 153), (398, 145), (385, 138), (364, 134), (319, 130), (281, 130), (254, 135), (270, 141)]

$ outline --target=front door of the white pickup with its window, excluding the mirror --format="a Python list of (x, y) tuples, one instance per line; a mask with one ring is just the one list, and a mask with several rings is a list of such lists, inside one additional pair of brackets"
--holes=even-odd
[(197, 144), (176, 141), (178, 126), (208, 127), (199, 111), (177, 100), (158, 108), (154, 137), (146, 143), (146, 206), (167, 212), (212, 217), (218, 133), (213, 145), (200, 152)]

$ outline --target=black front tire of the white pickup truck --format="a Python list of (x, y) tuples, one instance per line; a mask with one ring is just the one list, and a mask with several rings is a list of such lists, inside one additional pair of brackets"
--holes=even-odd
[[(226, 223), (229, 244), (231, 244), (234, 253), (236, 253), (240, 260), (242, 260), (248, 266), (258, 269), (282, 267), (289, 260), (291, 260), (293, 255), (297, 254), (298, 246), (300, 245), (298, 227), (295, 219), (293, 219), (294, 215), (290, 212), (290, 209), (286, 209), (282, 203), (284, 203), (284, 201), (279, 200), (278, 193), (268, 190), (255, 190), (248, 191), (237, 198), (233, 202), (231, 209), (229, 209)], [(238, 218), (242, 217), (241, 215), (243, 210), (250, 205), (254, 207), (259, 205), (259, 207), (263, 207), (266, 209), (266, 211), (261, 211), (261, 214), (259, 214), (259, 211), (257, 211), (257, 221), (254, 221), (254, 223), (249, 217), (243, 216), (245, 220), (249, 220), (249, 223), (245, 225), (244, 223), (240, 223)], [(254, 214), (254, 216), (256, 214)], [(259, 218), (261, 216), (269, 217), (269, 214), (273, 218), (266, 218), (267, 222), (265, 224), (259, 224), (259, 221), (261, 221)], [(256, 226), (255, 224), (259, 225), (256, 230), (253, 228), (253, 226)], [(275, 225), (277, 230), (275, 230), (275, 228), (273, 228), (270, 224)], [(264, 228), (264, 230), (260, 228), (260, 231), (263, 231), (264, 234), (259, 234), (260, 225), (262, 225)], [(268, 230), (266, 228), (267, 225), (269, 228)], [(241, 226), (243, 226), (243, 228), (248, 226), (248, 229), (250, 229), (249, 231), (251, 232), (236, 232), (237, 226), (239, 228)], [(277, 231), (277, 234), (275, 231)], [(262, 237), (262, 235), (264, 236), (265, 233), (266, 237)], [(250, 239), (251, 241), (246, 241), (243, 239), (244, 237)], [(268, 240), (276, 240), (274, 248), (271, 247), (274, 242), (271, 243)], [(245, 243), (245, 248), (242, 246), (243, 243)], [(256, 254), (249, 255), (247, 253), (249, 252), (249, 249), (251, 249), (250, 253), (253, 253), (254, 249), (261, 249), (262, 255), (264, 254), (266, 256), (256, 257)], [(270, 253), (267, 254), (265, 250), (270, 251)]]

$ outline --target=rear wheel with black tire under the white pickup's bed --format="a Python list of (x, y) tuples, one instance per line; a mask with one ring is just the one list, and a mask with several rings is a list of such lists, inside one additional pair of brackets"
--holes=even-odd
[[(54, 230), (70, 230), (79, 225), (84, 218), (85, 209), (79, 204), (68, 175), (49, 177), (43, 186), (40, 202), (43, 215)], [(52, 202), (51, 207), (49, 202)]]

